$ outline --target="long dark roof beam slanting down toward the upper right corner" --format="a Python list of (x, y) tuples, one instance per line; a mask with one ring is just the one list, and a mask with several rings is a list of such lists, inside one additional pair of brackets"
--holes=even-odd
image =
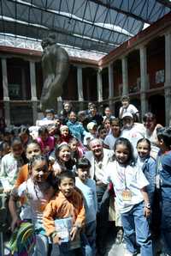
[(150, 22), (150, 21), (145, 20), (143, 17), (140, 17), (139, 15), (135, 15), (135, 14), (129, 12), (129, 11), (126, 11), (126, 10), (123, 10), (123, 9), (120, 9), (120, 8), (117, 8), (117, 7), (115, 7), (115, 6), (112, 6), (111, 4), (103, 3), (102, 0), (89, 0), (89, 1), (91, 1), (91, 2), (93, 2), (93, 3), (97, 3), (98, 5), (102, 5), (102, 6), (106, 7), (106, 8), (109, 8), (109, 9), (114, 9), (115, 11), (117, 11), (117, 12), (123, 14), (123, 15), (130, 16), (130, 17), (132, 17), (133, 19), (136, 19), (136, 20), (138, 20), (138, 21), (142, 21), (142, 22), (149, 23), (149, 24), (152, 23), (152, 22)]

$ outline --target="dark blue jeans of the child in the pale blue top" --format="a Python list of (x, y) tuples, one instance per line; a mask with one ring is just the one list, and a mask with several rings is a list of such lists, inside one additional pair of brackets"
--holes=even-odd
[(85, 224), (85, 233), (81, 234), (83, 256), (96, 255), (96, 221)]

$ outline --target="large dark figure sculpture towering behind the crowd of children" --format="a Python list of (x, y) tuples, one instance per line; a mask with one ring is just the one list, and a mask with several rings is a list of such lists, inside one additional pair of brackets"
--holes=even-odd
[(56, 108), (56, 98), (62, 95), (62, 85), (68, 77), (68, 53), (56, 45), (56, 37), (50, 34), (42, 41), (42, 69), (44, 86), (40, 98), (40, 108)]

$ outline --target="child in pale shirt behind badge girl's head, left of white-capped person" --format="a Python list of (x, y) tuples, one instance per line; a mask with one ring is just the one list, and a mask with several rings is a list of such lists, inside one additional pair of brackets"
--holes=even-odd
[(111, 132), (104, 139), (104, 145), (107, 149), (114, 149), (115, 141), (121, 136), (121, 121), (120, 119), (110, 119)]

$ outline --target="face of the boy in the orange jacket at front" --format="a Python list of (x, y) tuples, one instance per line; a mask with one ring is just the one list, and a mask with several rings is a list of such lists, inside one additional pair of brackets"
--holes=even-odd
[(66, 198), (69, 198), (74, 192), (74, 180), (67, 177), (62, 179), (59, 189)]

